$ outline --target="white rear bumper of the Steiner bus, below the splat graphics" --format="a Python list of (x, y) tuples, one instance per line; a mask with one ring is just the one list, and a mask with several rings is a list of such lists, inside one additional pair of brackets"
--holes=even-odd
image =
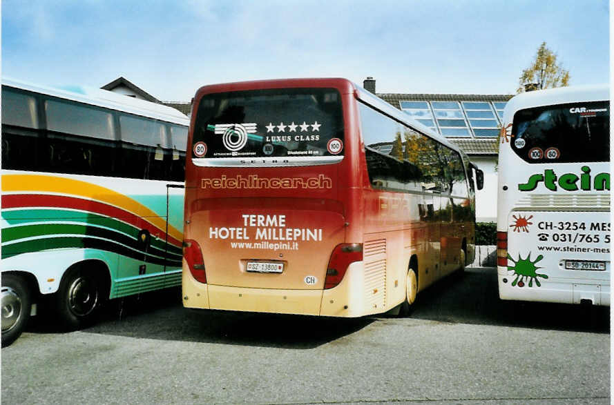
[(593, 305), (610, 306), (610, 282), (606, 280), (561, 279), (541, 280), (541, 286), (512, 286), (514, 276), (506, 267), (498, 266), (499, 297), (519, 301), (559, 302), (582, 304), (588, 300)]

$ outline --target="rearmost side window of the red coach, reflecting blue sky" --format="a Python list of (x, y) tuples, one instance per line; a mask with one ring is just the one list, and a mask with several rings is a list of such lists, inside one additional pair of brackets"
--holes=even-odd
[(422, 190), (421, 172), (407, 159), (406, 128), (360, 104), (367, 172), (371, 186), (379, 190)]

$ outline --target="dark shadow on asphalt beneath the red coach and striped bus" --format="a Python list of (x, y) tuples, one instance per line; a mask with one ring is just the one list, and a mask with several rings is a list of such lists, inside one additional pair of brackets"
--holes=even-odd
[[(50, 318), (37, 318), (28, 331), (61, 332)], [(369, 318), (189, 310), (181, 304), (181, 289), (172, 288), (109, 302), (98, 322), (84, 331), (144, 339), (304, 349), (350, 335), (372, 322), (374, 319)]]

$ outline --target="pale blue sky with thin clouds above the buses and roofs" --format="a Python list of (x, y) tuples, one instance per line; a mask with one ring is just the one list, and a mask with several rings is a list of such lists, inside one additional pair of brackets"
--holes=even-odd
[(1, 75), (157, 99), (212, 83), (376, 79), (376, 92), (513, 94), (546, 42), (571, 85), (609, 82), (607, 0), (3, 0)]

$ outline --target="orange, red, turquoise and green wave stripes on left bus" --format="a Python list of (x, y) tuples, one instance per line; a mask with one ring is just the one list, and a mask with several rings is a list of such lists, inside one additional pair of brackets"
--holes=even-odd
[[(87, 181), (3, 175), (2, 259), (58, 248), (95, 248), (181, 267), (182, 233), (140, 202)], [(166, 195), (161, 196), (166, 198)], [(146, 234), (150, 237), (142, 237)], [(168, 242), (168, 243), (166, 243)]]

